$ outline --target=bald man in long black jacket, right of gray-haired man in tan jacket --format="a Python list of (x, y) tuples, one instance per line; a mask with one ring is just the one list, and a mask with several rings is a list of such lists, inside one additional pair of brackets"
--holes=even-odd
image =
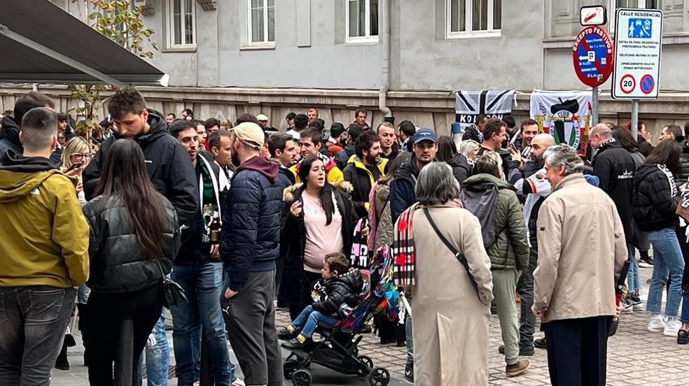
[[(600, 180), (600, 187), (615, 202), (622, 226), (625, 228), (625, 240), (629, 250), (629, 278), (636, 278), (634, 262), (634, 219), (632, 218), (632, 194), (634, 190), (634, 159), (622, 145), (613, 138), (612, 130), (606, 124), (597, 124), (589, 132), (589, 140), (595, 150), (592, 166), (594, 175)], [(643, 310), (639, 299), (640, 288), (637, 280), (629, 280), (629, 294), (625, 299), (625, 311)]]

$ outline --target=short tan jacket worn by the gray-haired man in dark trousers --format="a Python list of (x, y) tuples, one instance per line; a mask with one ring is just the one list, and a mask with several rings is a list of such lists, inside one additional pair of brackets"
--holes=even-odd
[(557, 184), (538, 210), (534, 303), (542, 322), (615, 315), (615, 283), (627, 260), (612, 199), (581, 173)]

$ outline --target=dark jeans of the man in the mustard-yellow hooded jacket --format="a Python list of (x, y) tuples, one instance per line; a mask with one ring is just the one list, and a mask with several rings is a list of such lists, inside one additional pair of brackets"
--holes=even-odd
[(0, 385), (48, 386), (76, 290), (0, 287)]

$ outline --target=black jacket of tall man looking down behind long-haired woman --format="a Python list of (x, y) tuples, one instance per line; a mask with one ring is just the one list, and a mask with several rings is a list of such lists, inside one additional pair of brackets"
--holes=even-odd
[[(179, 224), (190, 224), (199, 212), (198, 182), (191, 159), (177, 141), (167, 131), (165, 117), (155, 110), (148, 110), (148, 133), (136, 139), (146, 157), (146, 171), (155, 190), (165, 196), (174, 206), (179, 216)], [(86, 199), (91, 199), (98, 186), (101, 170), (110, 145), (123, 138), (119, 133), (106, 139), (100, 149), (86, 166), (83, 185)]]

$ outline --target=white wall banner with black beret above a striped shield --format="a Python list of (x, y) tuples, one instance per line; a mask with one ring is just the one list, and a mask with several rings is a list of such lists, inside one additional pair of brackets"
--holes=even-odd
[(556, 143), (578, 149), (591, 123), (591, 101), (590, 91), (534, 90), (531, 119), (538, 122), (543, 132), (552, 134)]

